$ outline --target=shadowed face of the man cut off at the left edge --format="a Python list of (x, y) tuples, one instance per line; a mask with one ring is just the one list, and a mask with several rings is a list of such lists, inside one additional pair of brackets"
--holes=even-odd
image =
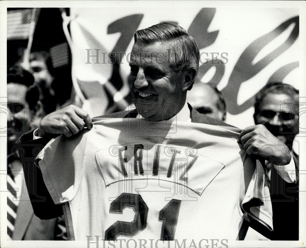
[(32, 111), (26, 101), (28, 87), (20, 83), (7, 84), (8, 114), (7, 132), (9, 139), (17, 139), (30, 129)]

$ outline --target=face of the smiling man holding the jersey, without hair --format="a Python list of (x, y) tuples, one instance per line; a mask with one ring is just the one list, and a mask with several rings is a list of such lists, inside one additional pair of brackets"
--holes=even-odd
[[(170, 119), (186, 100), (182, 89), (185, 75), (171, 68), (166, 49), (171, 49), (168, 42), (135, 43), (130, 57), (132, 98), (138, 113), (151, 121)], [(176, 111), (171, 111), (170, 105)]]

